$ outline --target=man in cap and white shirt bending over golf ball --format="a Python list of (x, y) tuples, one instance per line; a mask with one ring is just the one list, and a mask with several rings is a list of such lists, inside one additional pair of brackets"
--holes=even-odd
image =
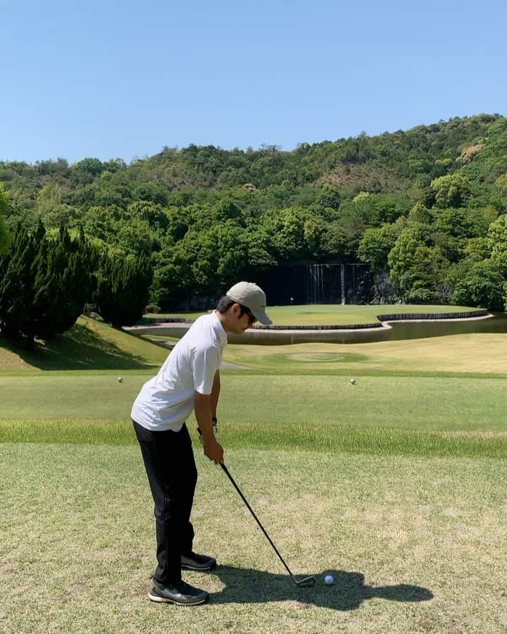
[(213, 557), (192, 549), (190, 512), (197, 471), (185, 421), (194, 410), (204, 454), (215, 464), (223, 462), (215, 431), (218, 368), (227, 332), (242, 334), (257, 320), (272, 323), (265, 303), (265, 294), (256, 284), (235, 284), (213, 313), (192, 324), (132, 406), (134, 430), (155, 503), (158, 566), (151, 578), (152, 601), (196, 605), (208, 599), (208, 592), (193, 588), (181, 576), (182, 568), (207, 571), (216, 565)]

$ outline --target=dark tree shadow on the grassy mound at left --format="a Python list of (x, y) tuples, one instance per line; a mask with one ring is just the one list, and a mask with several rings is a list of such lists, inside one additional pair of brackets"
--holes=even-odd
[[(123, 331), (122, 334), (134, 336)], [(0, 345), (40, 370), (143, 370), (154, 367), (80, 324), (54, 339), (39, 342), (32, 351), (5, 337), (0, 337)]]

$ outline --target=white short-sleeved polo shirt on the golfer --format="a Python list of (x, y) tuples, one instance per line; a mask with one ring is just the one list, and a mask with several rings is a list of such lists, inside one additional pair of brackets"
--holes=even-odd
[(132, 420), (151, 431), (180, 431), (194, 409), (194, 392), (211, 394), (227, 334), (215, 311), (196, 319), (158, 374), (144, 383)]

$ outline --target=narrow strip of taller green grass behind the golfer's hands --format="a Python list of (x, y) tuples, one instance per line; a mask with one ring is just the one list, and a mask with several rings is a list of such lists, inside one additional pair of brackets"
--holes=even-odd
[[(200, 447), (189, 426), (194, 445)], [(63, 445), (134, 445), (130, 422), (89, 419), (12, 421), (0, 419), (0, 442), (58, 443)], [(499, 458), (507, 456), (507, 432), (444, 432), (396, 428), (312, 423), (295, 428), (284, 423), (275, 431), (266, 423), (220, 425), (220, 442), (230, 449), (277, 449), (281, 451), (370, 454), (373, 456), (449, 456)]]

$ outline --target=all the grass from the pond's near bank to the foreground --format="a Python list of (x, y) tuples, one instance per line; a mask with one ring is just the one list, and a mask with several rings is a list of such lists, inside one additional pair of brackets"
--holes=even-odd
[(196, 445), (196, 547), (221, 564), (185, 575), (212, 595), (197, 612), (146, 598), (153, 509), (128, 416), (167, 351), (89, 320), (43, 354), (0, 347), (0, 631), (506, 631), (503, 337), (227, 347), (249, 369), (222, 376), (226, 462), (318, 584), (292, 585)]

